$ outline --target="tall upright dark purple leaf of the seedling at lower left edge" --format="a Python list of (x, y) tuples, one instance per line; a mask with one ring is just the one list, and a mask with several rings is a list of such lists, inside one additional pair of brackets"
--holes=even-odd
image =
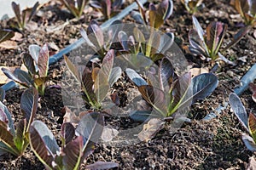
[(33, 122), (38, 110), (38, 90), (36, 88), (28, 88), (21, 95), (20, 110), (25, 115), (27, 128)]

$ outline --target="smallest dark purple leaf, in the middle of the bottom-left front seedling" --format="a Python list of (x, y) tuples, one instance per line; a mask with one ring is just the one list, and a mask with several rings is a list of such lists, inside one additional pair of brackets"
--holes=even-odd
[(75, 135), (75, 128), (73, 127), (72, 123), (64, 122), (61, 125), (61, 136), (63, 139), (65, 139), (65, 144), (71, 142), (74, 135)]

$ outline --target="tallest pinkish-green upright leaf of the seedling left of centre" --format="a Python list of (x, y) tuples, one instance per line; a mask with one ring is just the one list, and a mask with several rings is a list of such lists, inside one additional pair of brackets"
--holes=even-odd
[(113, 57), (114, 51), (110, 49), (102, 61), (101, 70), (97, 74), (94, 88), (98, 102), (101, 102), (108, 94), (108, 89), (110, 88), (108, 81), (113, 67)]

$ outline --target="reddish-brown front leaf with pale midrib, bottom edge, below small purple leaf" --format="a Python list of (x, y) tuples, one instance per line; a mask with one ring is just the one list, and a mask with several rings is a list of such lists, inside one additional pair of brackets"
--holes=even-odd
[(79, 165), (83, 162), (84, 139), (82, 136), (77, 137), (73, 141), (67, 143), (63, 148), (63, 166), (66, 169), (79, 169)]

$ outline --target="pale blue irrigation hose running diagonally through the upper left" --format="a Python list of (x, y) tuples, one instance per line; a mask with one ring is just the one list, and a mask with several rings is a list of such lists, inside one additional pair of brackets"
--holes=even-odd
[[(140, 3), (142, 4), (146, 2), (147, 0), (140, 1)], [(124, 8), (124, 10), (122, 10), (119, 14), (113, 16), (111, 19), (102, 23), (101, 28), (106, 29), (108, 26), (110, 26), (113, 23), (114, 20), (122, 20), (127, 14), (130, 14), (131, 11), (136, 8), (137, 8), (137, 3), (131, 3), (131, 5)], [(79, 38), (78, 41), (73, 42), (72, 44), (68, 45), (66, 48), (61, 49), (59, 53), (50, 56), (49, 65), (54, 65), (56, 62), (58, 62), (58, 60), (60, 60), (63, 57), (64, 54), (71, 52), (73, 49), (79, 48), (79, 46), (81, 46), (84, 42), (85, 42), (84, 38), (81, 37)], [(12, 88), (16, 88), (17, 86), (18, 85), (14, 81), (11, 81), (4, 84), (1, 88), (3, 88), (5, 92), (7, 92)]]

